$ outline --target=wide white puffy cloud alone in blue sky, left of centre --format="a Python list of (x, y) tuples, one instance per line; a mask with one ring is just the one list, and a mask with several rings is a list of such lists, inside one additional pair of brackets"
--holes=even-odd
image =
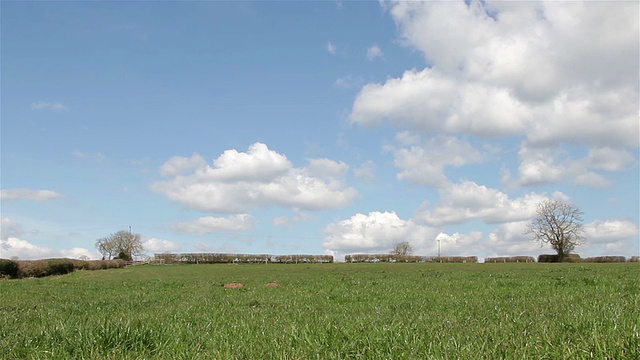
[(173, 179), (156, 182), (151, 189), (189, 208), (218, 213), (274, 205), (332, 209), (350, 204), (358, 194), (340, 179), (345, 166), (319, 159), (310, 167), (295, 168), (286, 156), (255, 143), (247, 152), (225, 151), (213, 166), (199, 155), (174, 157), (161, 167)]

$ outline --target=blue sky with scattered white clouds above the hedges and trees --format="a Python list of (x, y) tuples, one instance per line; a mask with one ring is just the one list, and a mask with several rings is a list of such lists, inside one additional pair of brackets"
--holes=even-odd
[(2, 2), (0, 257), (639, 255), (638, 6)]

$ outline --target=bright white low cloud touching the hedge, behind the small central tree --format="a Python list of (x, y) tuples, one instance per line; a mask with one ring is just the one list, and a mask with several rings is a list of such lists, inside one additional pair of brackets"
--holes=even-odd
[(414, 247), (435, 237), (432, 229), (420, 226), (412, 220), (402, 220), (395, 212), (371, 212), (355, 214), (350, 219), (329, 224), (323, 246), (328, 251), (388, 252), (400, 241), (409, 241)]

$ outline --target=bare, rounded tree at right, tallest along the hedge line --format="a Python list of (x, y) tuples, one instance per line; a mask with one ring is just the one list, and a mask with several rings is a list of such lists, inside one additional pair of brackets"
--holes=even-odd
[(558, 261), (571, 254), (584, 241), (583, 212), (573, 204), (561, 200), (545, 200), (538, 204), (536, 217), (525, 233), (533, 235), (533, 241), (550, 244), (558, 253)]

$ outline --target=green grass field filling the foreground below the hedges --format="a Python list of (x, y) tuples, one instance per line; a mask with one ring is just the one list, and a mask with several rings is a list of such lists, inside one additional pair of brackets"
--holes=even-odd
[(640, 358), (638, 263), (144, 265), (0, 298), (7, 359)]

